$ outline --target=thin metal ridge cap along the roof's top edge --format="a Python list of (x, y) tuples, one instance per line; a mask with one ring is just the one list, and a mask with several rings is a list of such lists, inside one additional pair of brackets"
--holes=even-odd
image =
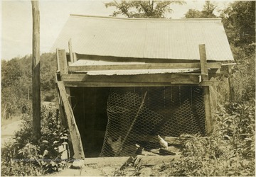
[(90, 16), (70, 13), (70, 17), (80, 18), (107, 18), (125, 21), (221, 21), (221, 18), (123, 18), (113, 16)]

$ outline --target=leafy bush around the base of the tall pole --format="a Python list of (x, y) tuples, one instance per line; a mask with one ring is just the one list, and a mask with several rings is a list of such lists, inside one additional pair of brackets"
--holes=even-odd
[(66, 166), (67, 161), (60, 159), (58, 146), (67, 142), (68, 130), (61, 127), (54, 108), (41, 108), (41, 139), (33, 142), (32, 132), (31, 108), (27, 108), (14, 142), (2, 148), (3, 176), (41, 176), (60, 171)]

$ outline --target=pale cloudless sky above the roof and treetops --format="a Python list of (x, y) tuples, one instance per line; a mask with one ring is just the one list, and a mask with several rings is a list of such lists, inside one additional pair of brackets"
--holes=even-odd
[[(40, 51), (50, 52), (60, 30), (70, 14), (110, 16), (114, 8), (105, 8), (107, 0), (39, 0)], [(218, 6), (215, 13), (230, 1), (213, 1)], [(202, 10), (205, 1), (187, 1), (184, 5), (172, 5), (171, 18), (183, 18), (190, 8)], [(1, 59), (24, 57), (32, 53), (31, 1), (1, 1)]]

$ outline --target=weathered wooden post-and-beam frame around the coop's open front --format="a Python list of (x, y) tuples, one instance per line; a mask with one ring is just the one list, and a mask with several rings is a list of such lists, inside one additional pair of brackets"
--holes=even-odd
[[(70, 87), (129, 87), (129, 86), (203, 86), (203, 96), (206, 114), (206, 133), (213, 130), (213, 120), (210, 108), (210, 89), (215, 86), (215, 77), (220, 73), (222, 64), (220, 62), (207, 62), (206, 47), (199, 45), (200, 62), (193, 63), (145, 63), (145, 64), (113, 64), (113, 65), (87, 65), (68, 66), (65, 50), (57, 50), (58, 60), (58, 89), (61, 92), (63, 113), (68, 121), (70, 135), (75, 151), (75, 158), (84, 157), (80, 134), (75, 123), (75, 118), (70, 107)], [(72, 51), (71, 40), (69, 41), (69, 52), (71, 63), (75, 62), (76, 55)], [(199, 69), (193, 73), (171, 73), (171, 74), (138, 74), (138, 75), (88, 75), (88, 71), (99, 70), (126, 70), (126, 69)], [(81, 73), (82, 72), (82, 73)], [(65, 88), (65, 91), (61, 88)], [(64, 95), (63, 95), (64, 94)], [(65, 101), (69, 100), (68, 103)], [(65, 102), (65, 103), (64, 103)], [(68, 113), (67, 113), (68, 111)], [(73, 141), (73, 139), (75, 139)]]

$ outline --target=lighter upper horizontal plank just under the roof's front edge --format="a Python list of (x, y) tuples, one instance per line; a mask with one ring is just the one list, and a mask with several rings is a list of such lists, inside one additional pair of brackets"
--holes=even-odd
[[(85, 65), (85, 66), (68, 66), (68, 71), (98, 71), (98, 70), (126, 70), (126, 69), (196, 69), (200, 68), (200, 63), (150, 63), (150, 64), (112, 64), (112, 65)], [(209, 69), (220, 69), (221, 63), (208, 63)]]

